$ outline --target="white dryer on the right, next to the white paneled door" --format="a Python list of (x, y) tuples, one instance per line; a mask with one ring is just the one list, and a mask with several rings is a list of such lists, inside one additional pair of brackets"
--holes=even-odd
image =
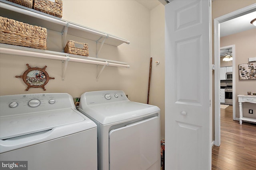
[(99, 170), (160, 170), (160, 109), (123, 91), (86, 92), (79, 111), (97, 124)]

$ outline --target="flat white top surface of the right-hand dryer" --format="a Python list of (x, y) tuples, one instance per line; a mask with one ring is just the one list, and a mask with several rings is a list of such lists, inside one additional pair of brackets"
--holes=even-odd
[(86, 106), (80, 111), (92, 117), (102, 125), (132, 119), (160, 111), (157, 106), (138, 102), (122, 101)]

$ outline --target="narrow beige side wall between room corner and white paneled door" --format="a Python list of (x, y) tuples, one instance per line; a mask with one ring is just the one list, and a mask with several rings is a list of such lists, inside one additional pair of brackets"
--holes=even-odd
[[(161, 109), (161, 138), (164, 139), (164, 5), (160, 4), (150, 11), (150, 37), (152, 76), (149, 104)], [(159, 64), (155, 62), (159, 61)]]

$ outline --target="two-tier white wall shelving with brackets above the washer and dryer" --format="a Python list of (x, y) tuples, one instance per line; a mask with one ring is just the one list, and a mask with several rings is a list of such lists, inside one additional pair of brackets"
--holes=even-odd
[[(37, 25), (40, 27), (45, 27), (46, 29), (51, 29), (54, 31), (58, 31), (62, 33), (62, 47), (66, 45), (66, 35), (74, 35), (77, 37), (82, 37), (85, 39), (90, 39), (92, 41), (96, 41), (96, 43), (101, 43), (101, 47), (103, 44), (113, 45), (115, 47), (121, 45), (122, 43), (130, 44), (130, 41), (122, 39), (120, 37), (116, 37), (114, 35), (110, 35), (108, 33), (104, 33), (102, 31), (98, 31), (89, 27), (85, 27), (83, 25), (79, 25), (77, 23), (72, 23), (70, 21), (66, 21), (24, 6), (20, 6), (18, 4), (14, 4), (12, 2), (6, 0), (0, 0), (0, 15), (2, 17), (14, 19), (17, 21), (22, 21), (24, 23), (29, 23), (31, 25)], [(1, 54), (10, 54), (10, 55), (22, 55), (27, 57), (39, 57), (44, 59), (55, 59), (61, 60), (63, 64), (62, 68), (62, 80), (64, 80), (64, 74), (66, 72), (66, 67), (68, 65), (68, 61), (78, 62), (78, 63), (89, 63), (89, 64), (99, 64), (103, 65), (102, 70), (98, 74), (96, 80), (105, 66), (117, 66), (117, 67), (125, 67), (130, 68), (128, 63), (112, 61), (107, 59), (98, 58), (98, 53), (100, 49), (96, 51), (95, 57), (82, 57), (78, 55), (72, 55), (67, 53), (61, 53), (56, 51), (48, 51), (48, 50), (40, 50), (40, 49), (32, 49), (28, 47), (19, 47), (14, 45), (6, 45), (1, 44), (0, 53)]]

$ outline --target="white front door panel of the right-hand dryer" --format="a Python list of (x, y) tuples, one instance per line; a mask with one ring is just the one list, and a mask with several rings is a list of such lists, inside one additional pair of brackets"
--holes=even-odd
[(160, 170), (160, 121), (151, 117), (109, 132), (110, 170)]

